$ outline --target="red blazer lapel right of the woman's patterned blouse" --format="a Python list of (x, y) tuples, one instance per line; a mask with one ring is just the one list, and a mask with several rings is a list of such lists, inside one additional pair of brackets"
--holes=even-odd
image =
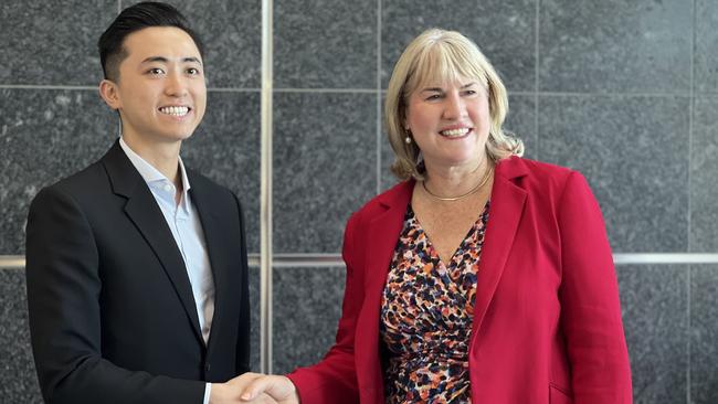
[(485, 234), (486, 241), (478, 263), (469, 352), (474, 350), (477, 331), (484, 321), (488, 305), (494, 298), (524, 213), (526, 191), (517, 187), (514, 181), (526, 173), (519, 158), (503, 160), (496, 167)]

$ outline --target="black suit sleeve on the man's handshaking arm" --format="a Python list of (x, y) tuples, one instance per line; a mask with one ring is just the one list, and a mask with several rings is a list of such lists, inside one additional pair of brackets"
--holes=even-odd
[(202, 403), (204, 382), (134, 372), (102, 358), (98, 263), (80, 205), (59, 187), (42, 190), (28, 216), (27, 287), (45, 403)]

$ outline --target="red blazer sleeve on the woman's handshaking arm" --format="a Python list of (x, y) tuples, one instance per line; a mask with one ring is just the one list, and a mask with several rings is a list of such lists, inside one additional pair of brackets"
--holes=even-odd
[(359, 402), (353, 345), (357, 317), (363, 302), (363, 268), (359, 259), (362, 247), (358, 244), (357, 227), (358, 216), (355, 214), (345, 230), (341, 255), (347, 266), (347, 280), (336, 342), (319, 363), (287, 375), (303, 403)]

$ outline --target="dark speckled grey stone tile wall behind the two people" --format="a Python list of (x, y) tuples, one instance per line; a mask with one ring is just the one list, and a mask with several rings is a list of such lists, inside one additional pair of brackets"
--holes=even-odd
[[(262, 0), (172, 2), (204, 38), (210, 87), (183, 156), (241, 196), (258, 253)], [(32, 196), (117, 136), (95, 41), (129, 3), (0, 4), (0, 256), (23, 254)], [(715, 0), (277, 0), (274, 13), (275, 253), (338, 253), (349, 214), (394, 183), (382, 89), (430, 26), (482, 46), (509, 89), (507, 128), (527, 157), (585, 174), (614, 252), (718, 253)], [(299, 266), (274, 269), (276, 372), (319, 360), (340, 312), (344, 268)], [(635, 402), (718, 402), (718, 265), (619, 265), (617, 277)], [(0, 402), (40, 402), (22, 269), (0, 268)]]

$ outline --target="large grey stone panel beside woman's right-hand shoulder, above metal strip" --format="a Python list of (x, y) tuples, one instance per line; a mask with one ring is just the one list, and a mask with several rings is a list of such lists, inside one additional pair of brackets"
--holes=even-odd
[(541, 96), (539, 156), (585, 176), (614, 252), (687, 251), (688, 104)]

